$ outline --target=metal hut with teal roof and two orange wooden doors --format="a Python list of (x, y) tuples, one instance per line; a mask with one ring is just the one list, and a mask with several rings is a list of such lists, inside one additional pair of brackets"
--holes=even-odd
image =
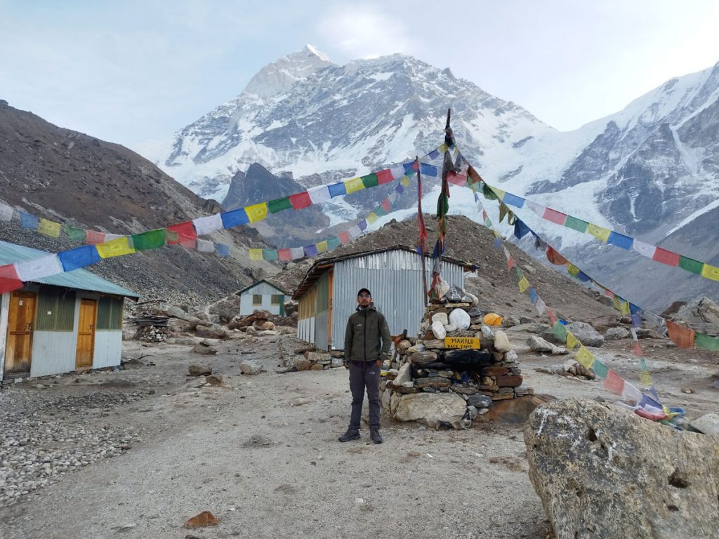
[[(0, 264), (47, 253), (0, 241)], [(85, 270), (26, 282), (0, 306), (0, 380), (120, 364), (122, 308), (134, 292)]]

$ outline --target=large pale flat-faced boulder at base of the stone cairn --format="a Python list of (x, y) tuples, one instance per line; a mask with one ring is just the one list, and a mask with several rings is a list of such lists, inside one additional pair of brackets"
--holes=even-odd
[(431, 427), (442, 423), (455, 426), (461, 422), (466, 409), (467, 403), (454, 393), (414, 393), (402, 395), (393, 417), (400, 421), (419, 421)]

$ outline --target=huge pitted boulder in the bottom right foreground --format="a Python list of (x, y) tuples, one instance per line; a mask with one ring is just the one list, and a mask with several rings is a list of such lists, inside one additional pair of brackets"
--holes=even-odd
[(719, 538), (719, 436), (571, 399), (534, 410), (524, 441), (557, 539)]

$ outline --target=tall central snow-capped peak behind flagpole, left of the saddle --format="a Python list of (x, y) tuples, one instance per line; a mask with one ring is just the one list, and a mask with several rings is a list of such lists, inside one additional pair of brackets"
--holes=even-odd
[(290, 170), (309, 186), (423, 155), (441, 143), (450, 107), (465, 152), (503, 174), (521, 165), (523, 144), (556, 133), (449, 69), (405, 55), (337, 66), (306, 47), (262, 68), (237, 98), (164, 147), (139, 151), (196, 193), (222, 201), (230, 178), (253, 162), (273, 173)]

